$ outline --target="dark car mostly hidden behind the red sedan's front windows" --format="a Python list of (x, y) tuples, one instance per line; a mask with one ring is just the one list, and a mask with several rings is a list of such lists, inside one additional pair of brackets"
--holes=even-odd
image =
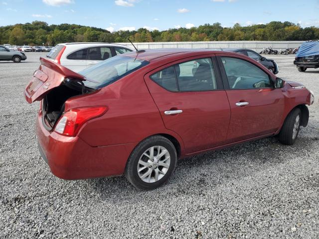
[(262, 65), (264, 65), (269, 71), (271, 71), (274, 74), (278, 74), (279, 72), (279, 66), (274, 60), (267, 59), (266, 57), (261, 56), (256, 51), (250, 50), (250, 49), (244, 49), (244, 48), (223, 48), (224, 51), (233, 51), (237, 53), (244, 54)]

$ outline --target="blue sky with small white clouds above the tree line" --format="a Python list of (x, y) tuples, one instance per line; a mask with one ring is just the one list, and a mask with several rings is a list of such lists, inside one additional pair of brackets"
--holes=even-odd
[(46, 21), (109, 31), (243, 26), (291, 21), (319, 27), (319, 0), (0, 0), (0, 26)]

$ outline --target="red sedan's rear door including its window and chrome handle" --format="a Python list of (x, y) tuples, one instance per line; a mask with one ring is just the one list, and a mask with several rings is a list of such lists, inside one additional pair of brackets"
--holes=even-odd
[(226, 140), (230, 108), (216, 64), (210, 56), (187, 58), (145, 76), (165, 127), (181, 136), (186, 153)]

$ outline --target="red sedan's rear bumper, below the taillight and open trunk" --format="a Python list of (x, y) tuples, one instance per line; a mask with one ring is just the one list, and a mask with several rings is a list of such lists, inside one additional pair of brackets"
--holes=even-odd
[(86, 179), (122, 175), (135, 143), (92, 147), (80, 137), (47, 131), (41, 113), (36, 120), (36, 136), (41, 157), (51, 172), (62, 179)]

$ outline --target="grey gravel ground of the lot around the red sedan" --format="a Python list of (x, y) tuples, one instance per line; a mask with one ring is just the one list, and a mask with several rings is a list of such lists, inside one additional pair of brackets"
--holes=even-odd
[(266, 138), (180, 160), (143, 192), (124, 177), (64, 181), (36, 147), (25, 85), (44, 53), (0, 62), (0, 238), (319, 238), (319, 69), (272, 56), (317, 96), (294, 146)]

